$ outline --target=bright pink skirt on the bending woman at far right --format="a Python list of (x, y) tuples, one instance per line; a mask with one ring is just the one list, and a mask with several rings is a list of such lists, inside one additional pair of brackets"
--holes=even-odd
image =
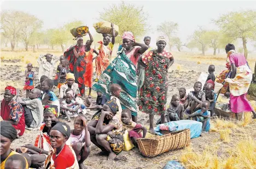
[(251, 112), (253, 111), (253, 107), (250, 102), (246, 99), (246, 94), (242, 94), (240, 96), (233, 96), (230, 93), (230, 108), (234, 113), (242, 113), (242, 112)]

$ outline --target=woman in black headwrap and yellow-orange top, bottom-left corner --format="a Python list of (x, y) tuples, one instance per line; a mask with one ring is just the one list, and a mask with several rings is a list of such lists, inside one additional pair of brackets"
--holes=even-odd
[[(10, 149), (10, 144), (15, 140), (17, 136), (16, 129), (8, 122), (0, 122), (1, 127), (1, 169), (4, 169), (7, 159), (14, 154), (19, 154)], [(26, 161), (26, 168), (28, 163)]]

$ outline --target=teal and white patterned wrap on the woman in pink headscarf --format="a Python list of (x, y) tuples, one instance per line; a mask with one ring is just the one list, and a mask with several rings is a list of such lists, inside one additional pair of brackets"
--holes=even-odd
[(132, 116), (137, 116), (136, 94), (137, 77), (135, 64), (125, 55), (122, 46), (118, 49), (120, 55), (117, 56), (100, 76), (97, 83), (92, 85), (92, 89), (101, 92), (110, 99), (110, 86), (116, 83), (121, 86), (119, 100), (122, 109), (129, 108)]

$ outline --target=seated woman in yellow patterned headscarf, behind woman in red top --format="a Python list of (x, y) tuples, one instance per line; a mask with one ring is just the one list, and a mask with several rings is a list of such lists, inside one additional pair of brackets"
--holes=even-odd
[(43, 166), (43, 162), (46, 159), (50, 150), (53, 150), (50, 142), (50, 130), (57, 121), (57, 110), (54, 107), (47, 107), (44, 110), (44, 124), (39, 128), (39, 134), (36, 138), (34, 145), (26, 144), (21, 148), (17, 148), (16, 152), (27, 153), (30, 155), (31, 167), (38, 168)]

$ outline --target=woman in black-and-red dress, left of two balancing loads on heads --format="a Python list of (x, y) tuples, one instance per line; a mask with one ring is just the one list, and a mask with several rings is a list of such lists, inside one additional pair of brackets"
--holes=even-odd
[[(91, 33), (88, 31), (90, 36), (90, 43), (92, 43)], [(84, 40), (82, 37), (77, 37), (77, 45), (69, 48), (64, 52), (65, 59), (69, 61), (69, 69), (71, 73), (75, 76), (75, 83), (78, 83), (80, 94), (84, 95), (84, 83), (85, 83), (85, 69), (86, 69), (86, 60), (85, 60), (85, 45), (83, 45)], [(89, 45), (88, 44), (88, 45)]]

